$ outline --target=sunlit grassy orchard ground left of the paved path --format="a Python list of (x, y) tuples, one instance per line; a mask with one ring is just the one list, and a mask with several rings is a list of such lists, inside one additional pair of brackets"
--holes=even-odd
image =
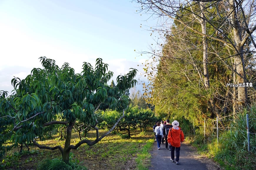
[[(99, 136), (104, 130), (99, 130)], [(140, 130), (131, 131), (131, 139), (125, 139), (123, 135), (109, 134), (100, 142), (93, 146), (82, 144), (78, 149), (71, 150), (70, 162), (76, 166), (85, 166), (87, 169), (146, 169), (150, 165), (149, 150), (153, 144), (152, 130), (148, 129), (141, 133)], [(88, 132), (87, 139), (94, 140), (95, 131)], [(38, 141), (39, 144), (46, 146), (60, 145), (64, 147), (64, 140), (58, 140), (59, 136), (55, 135), (52, 139)], [(72, 133), (71, 144), (79, 142), (77, 134)], [(39, 149), (30, 145), (30, 152), (24, 147), (20, 154), (18, 148), (7, 152), (3, 159), (0, 160), (0, 169), (37, 169), (45, 160), (53, 160), (53, 167), (56, 162), (61, 160), (61, 153), (58, 149), (51, 151)], [(46, 164), (50, 164), (47, 162)], [(60, 162), (61, 164), (61, 162)], [(45, 168), (44, 168), (45, 169)], [(47, 168), (46, 168), (47, 169)], [(67, 168), (68, 169), (68, 168)]]

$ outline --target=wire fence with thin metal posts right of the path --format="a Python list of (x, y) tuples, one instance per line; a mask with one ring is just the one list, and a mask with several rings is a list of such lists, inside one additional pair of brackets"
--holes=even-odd
[[(207, 140), (216, 140), (219, 142), (233, 142), (232, 145), (236, 147), (247, 148), (249, 152), (256, 153), (256, 118), (245, 117), (236, 119), (225, 119), (218, 117), (216, 120), (204, 120), (204, 126), (195, 126), (193, 122), (194, 136), (195, 129), (201, 128), (204, 131), (204, 137)], [(228, 134), (223, 137), (223, 133)], [(221, 139), (220, 139), (221, 137)]]

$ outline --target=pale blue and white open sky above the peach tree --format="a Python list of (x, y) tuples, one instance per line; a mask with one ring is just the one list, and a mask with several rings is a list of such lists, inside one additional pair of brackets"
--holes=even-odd
[[(150, 51), (154, 40), (145, 29), (156, 21), (137, 13), (137, 6), (123, 0), (0, 1), (0, 90), (10, 92), (13, 76), (25, 78), (41, 67), (40, 56), (59, 66), (68, 62), (77, 73), (83, 62), (94, 65), (100, 57), (114, 81), (131, 67), (143, 74), (149, 56), (137, 52)], [(146, 81), (140, 73), (137, 79)]]

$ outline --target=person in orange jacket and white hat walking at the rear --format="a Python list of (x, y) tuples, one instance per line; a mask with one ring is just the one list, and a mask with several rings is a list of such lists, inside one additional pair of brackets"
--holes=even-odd
[(167, 137), (168, 144), (171, 146), (171, 160), (174, 162), (174, 149), (176, 150), (176, 164), (179, 164), (180, 144), (184, 141), (184, 133), (179, 127), (179, 122), (174, 120), (172, 128), (169, 130)]

